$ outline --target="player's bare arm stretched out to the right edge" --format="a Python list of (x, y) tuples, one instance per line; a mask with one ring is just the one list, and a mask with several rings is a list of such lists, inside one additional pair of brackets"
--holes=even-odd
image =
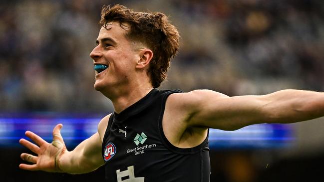
[(228, 97), (211, 90), (170, 95), (188, 127), (236, 130), (259, 123), (294, 123), (324, 116), (324, 93), (282, 90)]

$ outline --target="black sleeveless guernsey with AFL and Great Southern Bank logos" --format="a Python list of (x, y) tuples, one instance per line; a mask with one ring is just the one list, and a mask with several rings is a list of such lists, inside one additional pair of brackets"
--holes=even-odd
[(208, 137), (197, 147), (181, 149), (163, 133), (166, 99), (179, 92), (153, 89), (110, 116), (102, 143), (107, 182), (209, 182)]

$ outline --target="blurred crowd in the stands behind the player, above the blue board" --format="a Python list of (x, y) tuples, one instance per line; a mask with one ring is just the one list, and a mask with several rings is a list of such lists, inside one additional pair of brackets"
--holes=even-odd
[(160, 89), (324, 90), (321, 0), (1, 0), (0, 112), (111, 112), (89, 53), (103, 4), (161, 11), (181, 49)]

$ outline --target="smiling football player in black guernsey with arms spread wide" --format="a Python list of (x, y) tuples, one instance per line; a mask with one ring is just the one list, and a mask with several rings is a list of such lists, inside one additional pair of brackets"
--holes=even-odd
[(67, 151), (27, 131), (37, 154), (21, 154), (24, 170), (88, 173), (105, 165), (109, 182), (208, 182), (208, 129), (237, 130), (258, 123), (293, 123), (324, 116), (324, 93), (282, 90), (263, 96), (228, 97), (211, 90), (160, 91), (179, 33), (162, 13), (134, 12), (122, 5), (102, 9), (102, 26), (90, 53), (94, 88), (115, 112), (98, 132)]

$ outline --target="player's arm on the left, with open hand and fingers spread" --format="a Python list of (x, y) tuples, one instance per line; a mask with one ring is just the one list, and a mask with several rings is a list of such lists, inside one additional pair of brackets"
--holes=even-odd
[(19, 143), (30, 149), (36, 156), (23, 153), (21, 159), (31, 164), (20, 164), (19, 168), (29, 171), (64, 172), (70, 174), (88, 173), (101, 165), (101, 140), (98, 133), (80, 143), (73, 151), (67, 151), (58, 124), (53, 129), (53, 142), (47, 143), (36, 134), (25, 134), (37, 145), (20, 139)]

